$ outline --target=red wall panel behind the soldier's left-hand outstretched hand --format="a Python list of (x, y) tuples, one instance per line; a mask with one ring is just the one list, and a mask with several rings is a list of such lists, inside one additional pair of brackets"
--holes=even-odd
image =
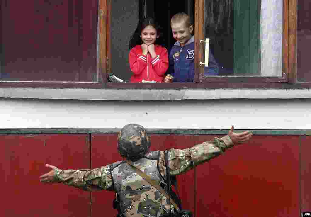
[(90, 167), (87, 138), (87, 134), (0, 135), (4, 216), (90, 216), (89, 192), (39, 182), (39, 176), (49, 171), (45, 163), (59, 168)]

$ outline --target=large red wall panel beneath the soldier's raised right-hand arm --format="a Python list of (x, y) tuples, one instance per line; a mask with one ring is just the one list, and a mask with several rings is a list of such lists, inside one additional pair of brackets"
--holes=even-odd
[(299, 137), (253, 136), (196, 179), (197, 216), (299, 216)]

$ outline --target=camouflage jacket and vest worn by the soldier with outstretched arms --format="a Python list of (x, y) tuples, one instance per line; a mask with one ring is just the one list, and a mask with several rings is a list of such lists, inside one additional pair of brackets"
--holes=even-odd
[[(189, 149), (170, 149), (168, 165), (170, 175), (178, 175), (223, 153), (233, 146), (227, 135), (215, 138)], [(134, 162), (135, 167), (153, 180), (166, 180), (165, 154), (151, 151)], [(173, 209), (169, 200), (154, 186), (140, 177), (125, 161), (119, 161), (96, 169), (55, 170), (56, 182), (75, 186), (86, 191), (108, 190), (118, 193), (120, 209), (125, 217), (158, 217)]]

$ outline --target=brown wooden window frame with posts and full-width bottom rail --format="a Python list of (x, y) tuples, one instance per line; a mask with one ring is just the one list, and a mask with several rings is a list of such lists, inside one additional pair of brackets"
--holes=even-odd
[[(283, 76), (267, 77), (211, 77), (202, 78), (199, 66), (204, 46), (204, 28), (195, 28), (195, 82), (194, 83), (109, 83), (107, 74), (112, 72), (111, 59), (111, 1), (99, 0), (98, 49), (99, 83), (74, 82), (1, 82), (0, 87), (47, 87), (47, 88), (101, 88), (101, 89), (183, 89), (183, 88), (310, 88), (310, 83), (297, 83), (297, 0), (283, 0)], [(204, 0), (195, 1), (195, 25), (204, 26)]]

